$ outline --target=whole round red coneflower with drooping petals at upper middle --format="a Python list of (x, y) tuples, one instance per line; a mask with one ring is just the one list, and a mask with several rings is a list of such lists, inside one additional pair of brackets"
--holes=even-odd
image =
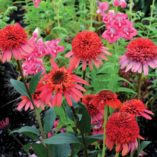
[(87, 64), (89, 64), (90, 69), (93, 68), (92, 63), (99, 67), (102, 64), (102, 59), (107, 60), (106, 55), (111, 54), (103, 46), (99, 36), (92, 31), (82, 31), (73, 39), (72, 51), (66, 56), (72, 57), (71, 68), (77, 68), (82, 61), (82, 69), (85, 70)]

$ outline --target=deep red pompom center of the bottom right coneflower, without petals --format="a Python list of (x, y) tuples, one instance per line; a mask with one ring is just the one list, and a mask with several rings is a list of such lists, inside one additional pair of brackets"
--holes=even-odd
[(139, 135), (139, 127), (133, 116), (128, 113), (115, 113), (107, 123), (106, 135), (115, 143), (134, 142)]

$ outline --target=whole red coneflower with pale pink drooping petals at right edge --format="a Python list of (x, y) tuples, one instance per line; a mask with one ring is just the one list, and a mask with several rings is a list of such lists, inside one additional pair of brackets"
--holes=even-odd
[(157, 68), (157, 46), (147, 38), (137, 38), (127, 46), (126, 53), (120, 57), (121, 69), (148, 75), (149, 66)]

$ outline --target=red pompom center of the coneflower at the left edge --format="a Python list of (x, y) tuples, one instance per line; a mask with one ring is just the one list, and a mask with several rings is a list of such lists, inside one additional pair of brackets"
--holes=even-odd
[(27, 34), (19, 25), (8, 25), (0, 30), (0, 49), (2, 51), (20, 48), (26, 44)]

